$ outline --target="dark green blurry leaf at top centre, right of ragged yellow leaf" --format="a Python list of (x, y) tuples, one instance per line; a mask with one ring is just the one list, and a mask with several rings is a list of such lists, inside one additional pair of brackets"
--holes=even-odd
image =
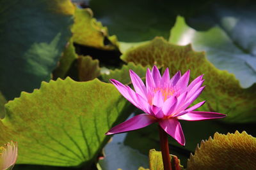
[(155, 36), (167, 38), (176, 15), (170, 1), (90, 1), (95, 17), (120, 41), (146, 41)]

